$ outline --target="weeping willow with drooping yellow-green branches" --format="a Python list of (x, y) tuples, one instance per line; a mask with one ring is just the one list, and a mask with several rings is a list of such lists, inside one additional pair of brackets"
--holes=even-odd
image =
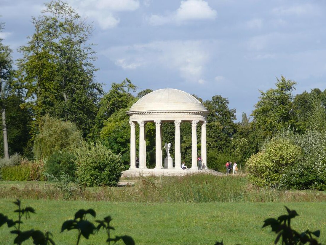
[(55, 151), (74, 151), (82, 146), (84, 139), (76, 124), (64, 122), (50, 115), (41, 118), (39, 133), (34, 141), (34, 157), (45, 159)]

